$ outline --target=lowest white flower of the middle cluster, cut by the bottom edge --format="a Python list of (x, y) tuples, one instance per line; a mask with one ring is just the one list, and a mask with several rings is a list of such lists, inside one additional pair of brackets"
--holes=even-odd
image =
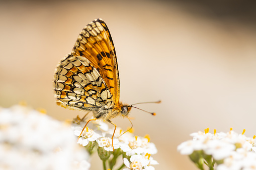
[[(124, 168), (124, 170), (141, 170), (143, 166), (147, 166), (149, 163), (149, 160), (144, 158), (142, 155), (132, 155), (130, 158), (130, 161), (127, 158), (124, 158), (124, 164), (127, 166), (127, 168)], [(150, 167), (149, 167), (150, 169)]]

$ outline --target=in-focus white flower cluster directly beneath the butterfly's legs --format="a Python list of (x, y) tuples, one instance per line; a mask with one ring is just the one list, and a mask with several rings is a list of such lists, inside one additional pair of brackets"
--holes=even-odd
[[(74, 134), (76, 136), (80, 135), (85, 124), (86, 122), (84, 121), (73, 123), (72, 129), (74, 130)], [(109, 129), (106, 123), (102, 122), (101, 120), (95, 120), (90, 122), (83, 130), (77, 143), (81, 144), (82, 146), (94, 146), (98, 144), (99, 147), (102, 147), (106, 151), (112, 153), (113, 147), (111, 137), (113, 132), (114, 128)], [(154, 167), (152, 165), (158, 164), (158, 162), (151, 157), (151, 154), (155, 154), (157, 149), (154, 143), (149, 142), (149, 136), (146, 135), (145, 137), (138, 137), (134, 136), (134, 134), (129, 131), (122, 135), (121, 134), (122, 130), (118, 127), (113, 138), (113, 146), (115, 151), (119, 150), (120, 155), (124, 154), (123, 163), (127, 166), (125, 170), (153, 170)], [(115, 151), (113, 152), (114, 155), (116, 155)]]

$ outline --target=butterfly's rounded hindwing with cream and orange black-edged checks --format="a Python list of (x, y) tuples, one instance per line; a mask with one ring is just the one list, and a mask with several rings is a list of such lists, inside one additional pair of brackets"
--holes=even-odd
[(54, 75), (57, 104), (71, 109), (97, 110), (111, 106), (112, 95), (106, 83), (87, 58), (68, 55)]

